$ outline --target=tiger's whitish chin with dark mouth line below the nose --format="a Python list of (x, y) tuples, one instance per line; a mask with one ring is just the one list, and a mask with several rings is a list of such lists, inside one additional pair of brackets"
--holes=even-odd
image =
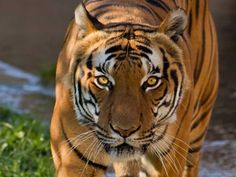
[(139, 159), (147, 150), (145, 146), (137, 148), (127, 143), (116, 147), (111, 147), (110, 145), (105, 145), (104, 147), (106, 152), (110, 155), (110, 160), (113, 162)]

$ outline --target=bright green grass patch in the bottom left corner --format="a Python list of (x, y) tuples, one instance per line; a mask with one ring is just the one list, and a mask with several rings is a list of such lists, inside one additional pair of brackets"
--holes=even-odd
[(0, 107), (0, 177), (53, 174), (49, 127)]

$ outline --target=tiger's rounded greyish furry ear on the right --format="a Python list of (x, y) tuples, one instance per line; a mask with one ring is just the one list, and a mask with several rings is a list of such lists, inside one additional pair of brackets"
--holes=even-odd
[(170, 12), (159, 26), (159, 32), (165, 33), (172, 39), (183, 34), (187, 27), (188, 19), (183, 9)]

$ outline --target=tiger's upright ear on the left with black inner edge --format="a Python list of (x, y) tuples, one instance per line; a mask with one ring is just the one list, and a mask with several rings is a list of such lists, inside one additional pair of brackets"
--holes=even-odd
[(89, 14), (83, 3), (75, 10), (75, 22), (79, 26), (80, 35), (83, 37), (103, 28), (103, 24)]

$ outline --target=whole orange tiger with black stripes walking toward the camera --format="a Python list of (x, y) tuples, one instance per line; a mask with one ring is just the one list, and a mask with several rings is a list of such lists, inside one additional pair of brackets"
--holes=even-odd
[(208, 0), (85, 0), (56, 69), (58, 177), (197, 177), (218, 92)]

